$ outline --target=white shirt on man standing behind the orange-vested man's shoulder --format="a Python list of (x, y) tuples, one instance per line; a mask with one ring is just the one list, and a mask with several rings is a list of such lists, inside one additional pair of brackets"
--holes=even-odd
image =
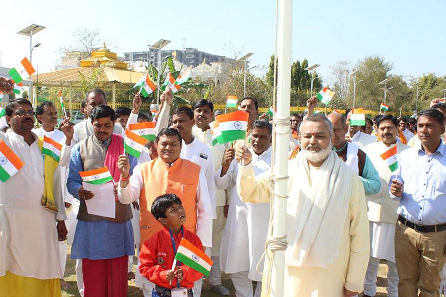
[(200, 165), (200, 171), (204, 173), (208, 185), (212, 205), (212, 217), (216, 219), (214, 158), (211, 149), (196, 138), (188, 145), (183, 140), (180, 157)]

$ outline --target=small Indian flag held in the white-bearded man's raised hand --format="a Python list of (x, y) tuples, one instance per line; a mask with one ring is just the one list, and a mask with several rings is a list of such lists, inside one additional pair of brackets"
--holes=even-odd
[(248, 128), (249, 113), (237, 110), (225, 114), (219, 114), (217, 121), (222, 131), (221, 143), (246, 139), (246, 129)]

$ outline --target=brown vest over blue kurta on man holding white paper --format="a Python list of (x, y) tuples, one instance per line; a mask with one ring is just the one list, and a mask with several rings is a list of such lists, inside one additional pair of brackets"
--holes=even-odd
[[(104, 160), (108, 146), (104, 146), (104, 144), (100, 142), (94, 135), (87, 137), (80, 143), (79, 146), (80, 157), (84, 166), (84, 171), (104, 167)], [(85, 201), (81, 200), (77, 219), (89, 222), (107, 220), (116, 223), (122, 223), (132, 219), (133, 215), (130, 204), (122, 204), (118, 200), (115, 200), (114, 203), (116, 212), (114, 219), (112, 219), (99, 215), (89, 214), (87, 212), (87, 205), (85, 204)]]

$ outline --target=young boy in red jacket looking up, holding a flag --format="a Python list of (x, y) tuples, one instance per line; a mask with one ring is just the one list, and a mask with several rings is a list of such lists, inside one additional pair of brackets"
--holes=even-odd
[(171, 269), (181, 238), (204, 251), (198, 236), (183, 228), (186, 214), (181, 200), (174, 194), (161, 195), (153, 201), (151, 212), (164, 228), (143, 243), (139, 272), (155, 284), (152, 297), (176, 296), (186, 290), (193, 297), (194, 282), (203, 274), (179, 262)]

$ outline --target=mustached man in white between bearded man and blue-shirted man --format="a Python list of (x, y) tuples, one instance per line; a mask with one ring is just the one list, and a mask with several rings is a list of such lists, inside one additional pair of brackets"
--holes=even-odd
[(383, 115), (377, 119), (376, 124), (378, 136), (382, 141), (362, 148), (378, 171), (381, 181), (380, 192), (366, 196), (370, 227), (370, 260), (364, 282), (364, 296), (374, 297), (376, 295), (378, 266), (380, 259), (385, 259), (389, 266), (387, 292), (389, 297), (397, 297), (398, 271), (395, 263), (395, 223), (398, 218), (396, 209), (399, 201), (390, 198), (389, 180), (392, 172), (381, 154), (395, 146), (398, 153), (409, 147), (396, 141), (398, 136), (398, 121), (396, 118), (391, 115)]

